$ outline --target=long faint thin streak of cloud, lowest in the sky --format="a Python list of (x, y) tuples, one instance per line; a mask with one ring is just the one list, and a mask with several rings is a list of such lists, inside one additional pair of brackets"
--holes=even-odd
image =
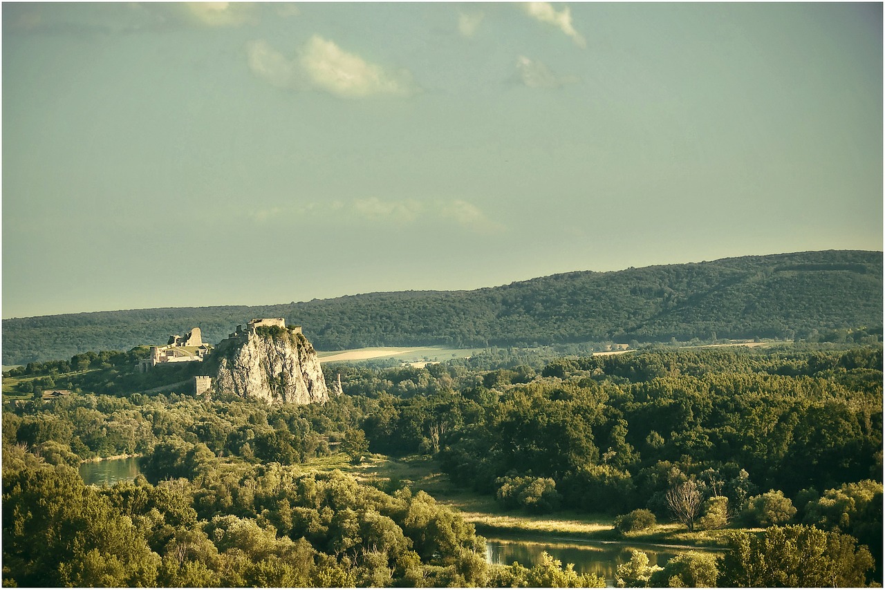
[(335, 223), (372, 224), (378, 226), (410, 226), (416, 223), (454, 224), (478, 234), (491, 234), (504, 229), (490, 219), (478, 206), (463, 199), (439, 199), (421, 202), (417, 199), (384, 199), (377, 196), (327, 201), (293, 203), (250, 211), (256, 223), (274, 221), (288, 223), (291, 218), (334, 219)]

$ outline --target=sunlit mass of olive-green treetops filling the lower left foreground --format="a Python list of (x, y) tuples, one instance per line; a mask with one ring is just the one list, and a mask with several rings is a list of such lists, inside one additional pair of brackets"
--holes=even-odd
[[(189, 479), (85, 487), (4, 448), (5, 586), (415, 586), (489, 581), (485, 543), (424, 493), (340, 471), (204, 463)], [(565, 581), (589, 578), (566, 569)]]

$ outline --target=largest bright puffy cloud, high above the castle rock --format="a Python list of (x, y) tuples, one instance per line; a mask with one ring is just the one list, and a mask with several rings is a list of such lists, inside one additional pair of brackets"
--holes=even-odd
[(412, 96), (419, 91), (407, 70), (372, 64), (319, 35), (292, 58), (260, 39), (247, 43), (246, 53), (252, 73), (279, 88), (313, 88), (344, 98)]

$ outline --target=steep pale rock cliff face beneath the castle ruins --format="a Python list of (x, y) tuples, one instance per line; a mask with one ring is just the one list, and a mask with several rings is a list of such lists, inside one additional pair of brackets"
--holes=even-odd
[(304, 334), (287, 328), (258, 328), (232, 334), (213, 354), (217, 393), (268, 403), (327, 402), (319, 358)]

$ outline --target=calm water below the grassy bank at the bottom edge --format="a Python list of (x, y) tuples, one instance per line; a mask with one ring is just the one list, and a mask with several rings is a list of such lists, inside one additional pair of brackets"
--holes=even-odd
[(609, 586), (614, 586), (618, 565), (630, 561), (630, 553), (634, 549), (639, 549), (648, 555), (650, 565), (661, 566), (673, 557), (691, 550), (691, 548), (625, 545), (602, 541), (487, 539), (486, 560), (501, 565), (519, 562), (530, 568), (546, 551), (554, 559), (561, 561), (563, 567), (566, 567), (566, 563), (574, 563), (575, 571), (595, 573), (604, 577)]

